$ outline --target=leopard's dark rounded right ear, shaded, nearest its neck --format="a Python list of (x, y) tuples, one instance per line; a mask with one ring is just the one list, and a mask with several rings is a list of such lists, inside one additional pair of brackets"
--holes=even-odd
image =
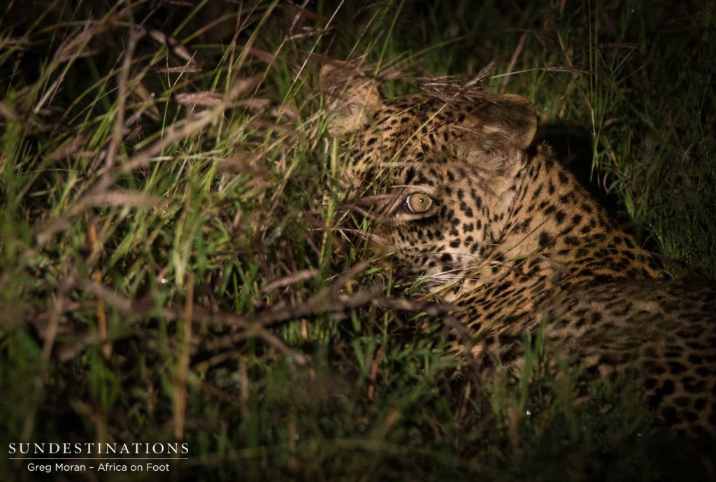
[(526, 149), (537, 132), (535, 107), (521, 95), (488, 98), (474, 112), (473, 138), (484, 150)]

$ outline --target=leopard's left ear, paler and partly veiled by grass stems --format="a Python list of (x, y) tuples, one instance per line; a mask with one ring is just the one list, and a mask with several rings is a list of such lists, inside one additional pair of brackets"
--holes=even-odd
[(333, 120), (329, 132), (349, 134), (368, 123), (373, 112), (382, 106), (378, 82), (361, 69), (346, 62), (331, 62), (321, 68), (321, 93), (326, 96)]

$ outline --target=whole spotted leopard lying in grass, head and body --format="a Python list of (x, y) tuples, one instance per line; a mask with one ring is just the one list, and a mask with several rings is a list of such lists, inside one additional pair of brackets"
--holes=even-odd
[(321, 67), (346, 206), (371, 219), (374, 252), (449, 308), (485, 373), (518, 373), (521, 340), (541, 334), (584, 377), (639, 374), (659, 423), (713, 439), (716, 284), (639, 246), (535, 141), (530, 100), (422, 85), (388, 99), (354, 64)]

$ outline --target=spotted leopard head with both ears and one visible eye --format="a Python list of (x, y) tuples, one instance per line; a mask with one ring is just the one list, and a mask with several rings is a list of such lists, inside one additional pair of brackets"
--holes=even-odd
[(371, 238), (403, 276), (471, 276), (500, 242), (536, 131), (531, 102), (461, 89), (385, 100), (344, 63), (321, 70), (329, 131), (349, 140), (348, 201), (376, 220)]

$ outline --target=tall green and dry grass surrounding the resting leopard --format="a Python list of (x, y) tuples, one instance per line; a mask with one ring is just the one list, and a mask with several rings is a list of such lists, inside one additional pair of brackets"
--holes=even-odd
[(539, 342), (518, 384), (455, 376), (337, 230), (316, 77), (494, 61), (642, 243), (715, 278), (714, 5), (359, 3), (1, 7), (0, 446), (184, 440), (177, 480), (678, 478), (629, 383), (576, 404)]

